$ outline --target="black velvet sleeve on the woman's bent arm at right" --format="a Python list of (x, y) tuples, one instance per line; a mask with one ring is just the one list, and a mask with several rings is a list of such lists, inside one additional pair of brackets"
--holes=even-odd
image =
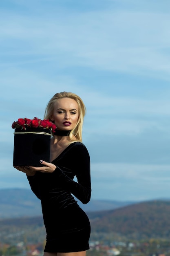
[(90, 157), (82, 143), (74, 144), (69, 152), (68, 161), (71, 171), (77, 177), (77, 182), (64, 173), (62, 166), (57, 166), (52, 174), (63, 189), (71, 192), (83, 204), (87, 204), (91, 198)]

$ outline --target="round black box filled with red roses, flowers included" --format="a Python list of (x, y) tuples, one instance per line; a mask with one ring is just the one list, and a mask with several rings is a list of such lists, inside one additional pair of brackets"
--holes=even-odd
[(13, 166), (42, 166), (50, 161), (51, 132), (56, 126), (49, 120), (19, 118), (14, 121)]

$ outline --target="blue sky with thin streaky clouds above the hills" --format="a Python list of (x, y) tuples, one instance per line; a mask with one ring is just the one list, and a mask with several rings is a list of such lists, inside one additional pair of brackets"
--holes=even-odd
[(18, 118), (43, 118), (56, 92), (84, 100), (92, 198), (170, 198), (170, 2), (1, 0), (0, 189)]

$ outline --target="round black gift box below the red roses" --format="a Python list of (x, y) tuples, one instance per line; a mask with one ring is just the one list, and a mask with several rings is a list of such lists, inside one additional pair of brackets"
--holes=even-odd
[(42, 166), (40, 160), (49, 162), (50, 141), (50, 129), (15, 128), (13, 166)]

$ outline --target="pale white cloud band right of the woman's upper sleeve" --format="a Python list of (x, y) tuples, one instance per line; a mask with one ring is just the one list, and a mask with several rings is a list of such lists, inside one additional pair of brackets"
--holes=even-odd
[(114, 179), (119, 181), (126, 180), (132, 183), (155, 183), (170, 181), (170, 165), (152, 165), (152, 164), (129, 164), (129, 163), (92, 163), (92, 177), (96, 180), (106, 182), (114, 182)]

